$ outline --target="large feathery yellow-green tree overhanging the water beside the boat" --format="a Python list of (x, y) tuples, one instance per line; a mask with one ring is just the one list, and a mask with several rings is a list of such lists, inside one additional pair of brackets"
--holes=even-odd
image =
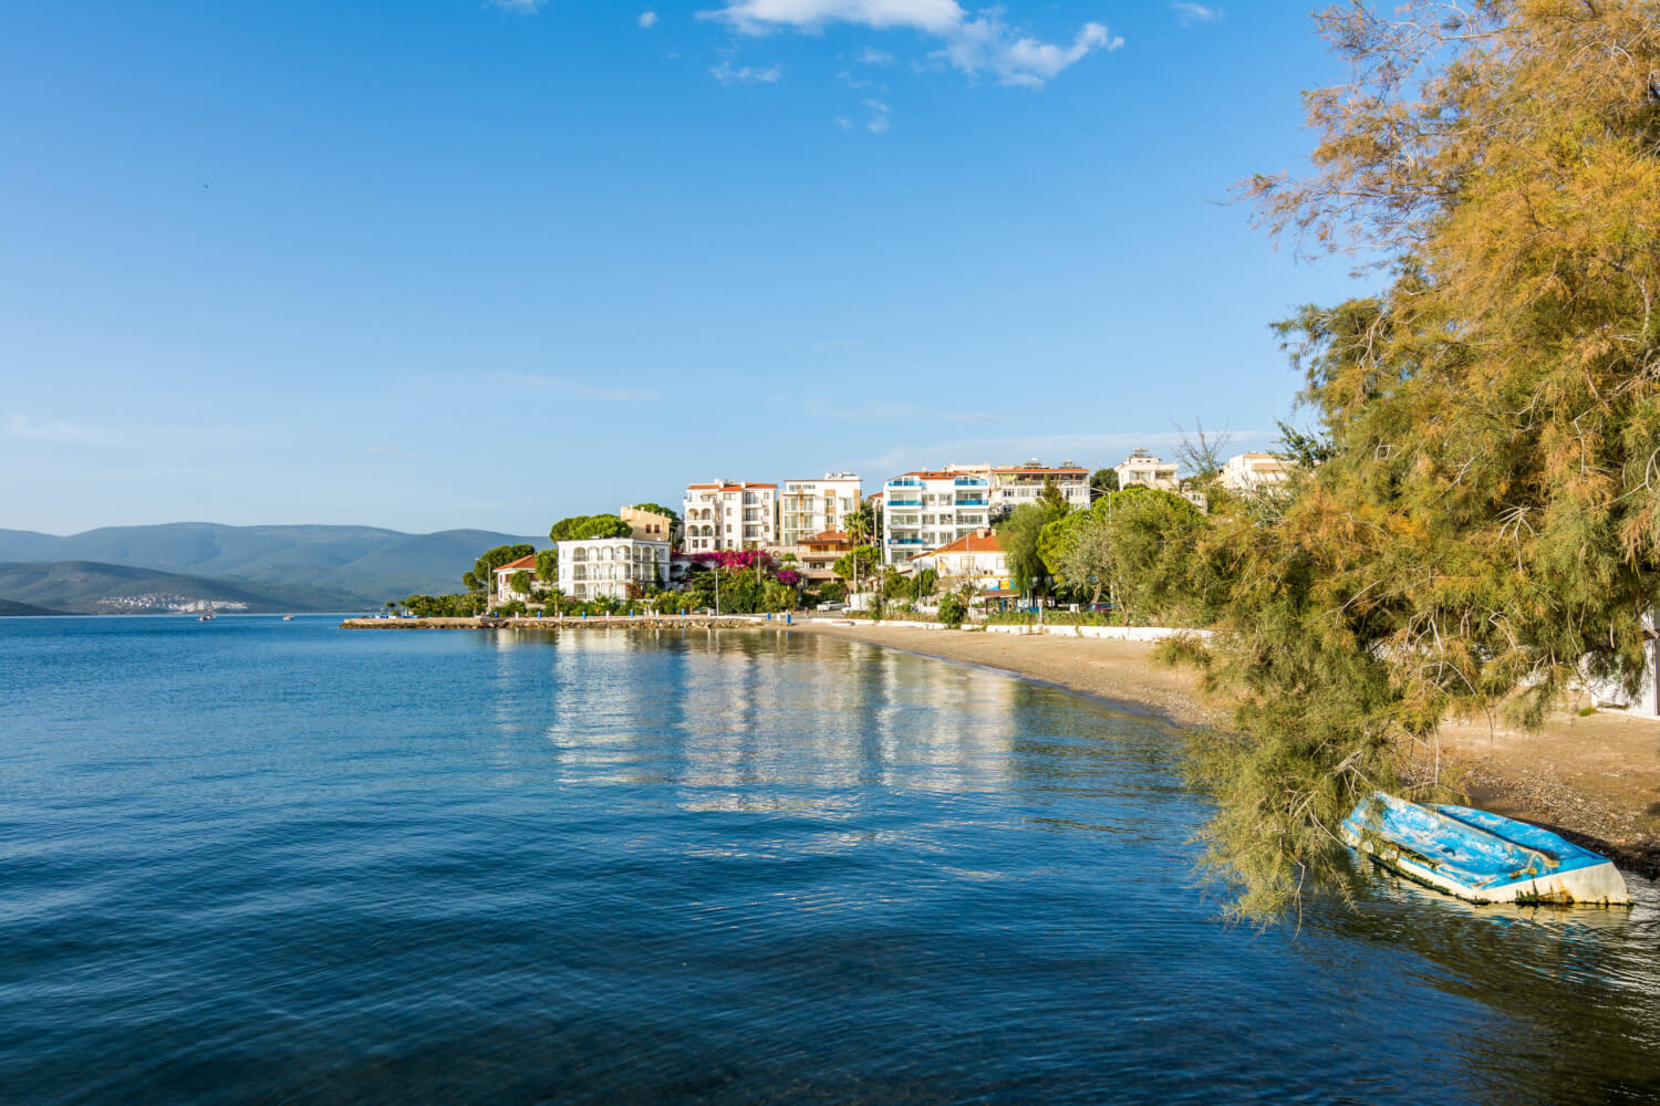
[(1655, 3), (1318, 18), (1355, 83), (1306, 96), (1313, 176), (1250, 191), (1388, 279), (1282, 323), (1325, 439), (1286, 446), (1323, 463), (1195, 542), (1232, 560), (1212, 672), (1240, 698), (1192, 749), (1204, 839), (1257, 917), (1341, 885), (1361, 796), (1436, 794), (1403, 766), (1438, 763), (1444, 716), (1537, 725), (1582, 675), (1635, 688), (1660, 590)]

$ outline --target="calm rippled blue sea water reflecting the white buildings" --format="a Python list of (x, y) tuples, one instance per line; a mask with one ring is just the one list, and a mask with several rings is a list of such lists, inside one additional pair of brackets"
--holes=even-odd
[(1217, 922), (1165, 726), (724, 632), (0, 620), (0, 1098), (1660, 1099), (1660, 904)]

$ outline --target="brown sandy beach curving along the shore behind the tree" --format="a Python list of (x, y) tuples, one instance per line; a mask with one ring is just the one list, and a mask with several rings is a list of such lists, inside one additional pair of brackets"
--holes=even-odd
[[(1227, 721), (1227, 706), (1205, 701), (1197, 673), (1155, 665), (1147, 642), (825, 620), (797, 623), (793, 632), (1004, 668), (1150, 710), (1179, 726)], [(1539, 733), (1451, 721), (1441, 741), (1444, 764), (1471, 804), (1549, 826), (1623, 867), (1660, 877), (1660, 721), (1560, 711)]]

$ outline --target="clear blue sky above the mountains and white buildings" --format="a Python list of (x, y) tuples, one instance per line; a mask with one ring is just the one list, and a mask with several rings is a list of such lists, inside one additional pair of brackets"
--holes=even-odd
[(0, 527), (1265, 448), (1298, 5), (0, 5)]

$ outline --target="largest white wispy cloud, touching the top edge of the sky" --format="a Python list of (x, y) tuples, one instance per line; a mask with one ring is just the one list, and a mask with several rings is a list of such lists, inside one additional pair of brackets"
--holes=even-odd
[[(1003, 8), (993, 7), (971, 18), (956, 0), (727, 0), (725, 7), (697, 13), (744, 35), (779, 30), (815, 35), (828, 23), (910, 28), (941, 40), (941, 48), (930, 55), (936, 63), (1026, 88), (1042, 86), (1096, 50), (1112, 51), (1124, 45), (1102, 23), (1084, 23), (1071, 45), (1046, 43), (1011, 27), (1003, 15)], [(891, 60), (872, 48), (860, 55), (865, 65)]]

